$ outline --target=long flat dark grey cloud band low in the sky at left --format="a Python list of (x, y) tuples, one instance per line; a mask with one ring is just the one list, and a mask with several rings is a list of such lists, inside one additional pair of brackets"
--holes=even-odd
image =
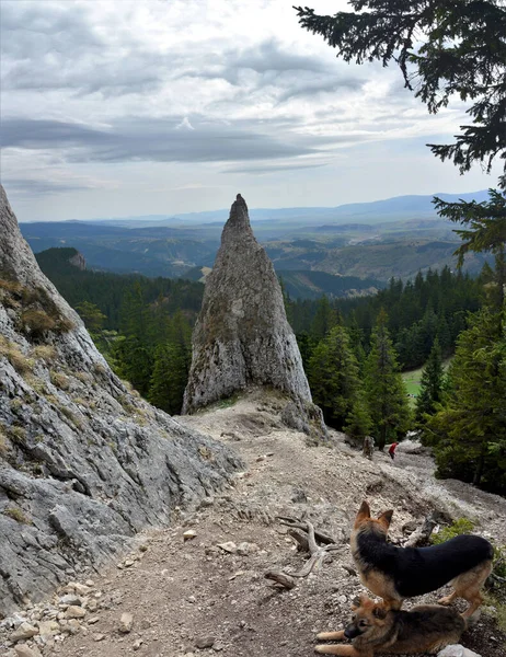
[(59, 149), (70, 162), (219, 162), (297, 157), (315, 152), (308, 140), (278, 137), (242, 126), (191, 119), (195, 130), (176, 129), (183, 117), (117, 119), (108, 129), (56, 120), (4, 119), (3, 145)]

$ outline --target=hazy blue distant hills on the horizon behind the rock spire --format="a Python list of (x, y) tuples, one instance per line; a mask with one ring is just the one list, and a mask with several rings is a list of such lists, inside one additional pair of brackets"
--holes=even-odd
[[(439, 196), (483, 200), (486, 194)], [(456, 266), (456, 226), (437, 217), (432, 198), (400, 196), (337, 208), (257, 209), (251, 216), (257, 240), (286, 277), (291, 296), (342, 296), (346, 286), (355, 295), (392, 276), (406, 279), (418, 270)], [(199, 268), (212, 267), (227, 218), (228, 211), (220, 210), (162, 219), (27, 222), (20, 228), (35, 253), (74, 247), (93, 269), (174, 278), (196, 268), (199, 278)], [(483, 262), (482, 255), (471, 254), (465, 267), (475, 273)], [(343, 286), (336, 276), (369, 280)]]

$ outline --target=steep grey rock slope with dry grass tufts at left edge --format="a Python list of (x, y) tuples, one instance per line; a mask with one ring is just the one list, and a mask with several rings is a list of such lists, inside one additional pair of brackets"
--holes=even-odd
[(240, 466), (111, 371), (0, 187), (0, 616), (169, 523)]

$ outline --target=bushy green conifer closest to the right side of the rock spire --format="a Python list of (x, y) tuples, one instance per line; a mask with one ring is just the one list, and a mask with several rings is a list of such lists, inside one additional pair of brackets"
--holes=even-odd
[(308, 380), (325, 422), (342, 429), (360, 387), (357, 359), (344, 326), (334, 326), (319, 343), (309, 361)]

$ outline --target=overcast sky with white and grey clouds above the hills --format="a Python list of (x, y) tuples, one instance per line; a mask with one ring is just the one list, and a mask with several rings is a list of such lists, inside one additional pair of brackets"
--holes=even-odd
[[(304, 2), (306, 3), (306, 2)], [(336, 206), (492, 186), (425, 147), (392, 67), (345, 65), (294, 0), (0, 0), (1, 180), (20, 220)], [(319, 13), (345, 0), (312, 0)]]

